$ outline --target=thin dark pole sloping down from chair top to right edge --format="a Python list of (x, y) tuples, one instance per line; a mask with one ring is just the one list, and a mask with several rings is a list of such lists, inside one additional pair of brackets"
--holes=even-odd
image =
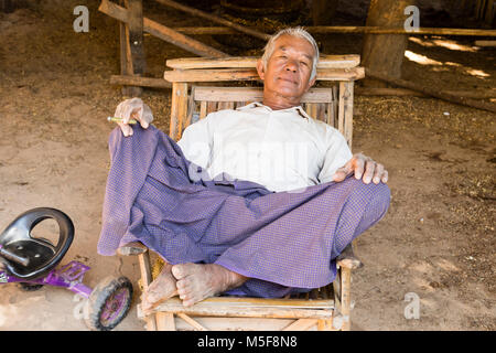
[(408, 89), (412, 89), (412, 90), (417, 90), (417, 92), (421, 92), (427, 96), (431, 96), (434, 98), (439, 98), (439, 99), (443, 99), (450, 103), (455, 103), (455, 104), (460, 104), (463, 106), (467, 106), (467, 107), (473, 107), (473, 108), (477, 108), (477, 109), (482, 109), (482, 110), (487, 110), (487, 111), (492, 111), (492, 113), (496, 113), (496, 106), (493, 104), (487, 104), (484, 101), (479, 101), (479, 100), (474, 100), (471, 98), (465, 98), (465, 97), (461, 97), (461, 96), (455, 96), (452, 94), (448, 94), (448, 93), (441, 93), (436, 89), (432, 89), (429, 87), (423, 87), (420, 86), (418, 84), (408, 82), (406, 79), (401, 79), (401, 78), (391, 78), (388, 77), (384, 74), (378, 74), (378, 73), (373, 73), (369, 69), (365, 69), (365, 74), (366, 76), (369, 76), (371, 78), (375, 79), (380, 79), (384, 81), (388, 84), (395, 85), (395, 86), (399, 86), (402, 88), (408, 88)]

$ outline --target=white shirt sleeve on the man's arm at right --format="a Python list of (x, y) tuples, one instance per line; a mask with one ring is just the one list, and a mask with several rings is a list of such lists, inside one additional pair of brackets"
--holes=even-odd
[(326, 132), (325, 141), (327, 148), (325, 149), (324, 162), (319, 173), (321, 183), (332, 181), (336, 170), (346, 164), (353, 157), (346, 139), (338, 130), (330, 127)]

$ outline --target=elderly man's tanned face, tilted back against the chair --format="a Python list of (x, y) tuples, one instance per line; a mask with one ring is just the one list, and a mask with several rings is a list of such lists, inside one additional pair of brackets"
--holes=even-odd
[(274, 51), (263, 69), (261, 61), (257, 69), (263, 79), (263, 94), (274, 95), (289, 100), (298, 100), (315, 83), (311, 82), (313, 56), (312, 44), (298, 36), (281, 35), (274, 42)]

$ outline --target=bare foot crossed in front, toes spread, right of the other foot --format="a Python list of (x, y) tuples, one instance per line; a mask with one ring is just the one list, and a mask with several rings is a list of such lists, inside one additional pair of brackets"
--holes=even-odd
[(179, 264), (172, 266), (172, 275), (185, 307), (239, 287), (248, 279), (216, 264)]

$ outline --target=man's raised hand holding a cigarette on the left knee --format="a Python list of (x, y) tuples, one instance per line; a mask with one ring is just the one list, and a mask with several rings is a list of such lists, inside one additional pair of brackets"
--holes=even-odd
[(114, 116), (122, 118), (122, 121), (118, 121), (117, 124), (126, 137), (132, 136), (132, 128), (129, 126), (130, 119), (138, 120), (143, 129), (147, 129), (153, 120), (150, 107), (140, 98), (126, 99), (119, 103)]

